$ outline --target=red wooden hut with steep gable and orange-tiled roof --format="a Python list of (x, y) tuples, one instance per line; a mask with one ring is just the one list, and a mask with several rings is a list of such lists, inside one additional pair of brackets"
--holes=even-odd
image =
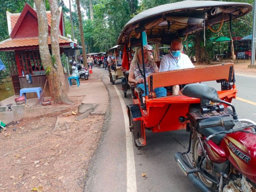
[[(62, 7), (59, 17), (59, 47), (60, 53), (71, 49), (70, 39), (64, 37)], [(51, 52), (50, 30), (51, 13), (46, 12), (48, 19), (48, 44)], [(14, 93), (20, 94), (21, 88), (42, 87), (46, 81), (44, 66), (41, 63), (38, 46), (38, 19), (37, 12), (28, 3), (25, 4), (21, 13), (6, 11), (8, 32), (11, 38), (0, 42), (0, 51), (7, 52), (8, 65), (14, 86)], [(32, 75), (32, 83), (28, 83), (26, 75)], [(31, 93), (27, 98), (34, 97)], [(45, 96), (49, 96), (48, 87)]]

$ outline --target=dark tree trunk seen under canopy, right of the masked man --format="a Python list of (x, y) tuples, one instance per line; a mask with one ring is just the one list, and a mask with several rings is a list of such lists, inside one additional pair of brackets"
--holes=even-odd
[(211, 64), (211, 60), (209, 54), (206, 52), (205, 47), (201, 46), (201, 42), (203, 42), (203, 38), (200, 32), (195, 33), (195, 43), (196, 43), (196, 61), (197, 64)]

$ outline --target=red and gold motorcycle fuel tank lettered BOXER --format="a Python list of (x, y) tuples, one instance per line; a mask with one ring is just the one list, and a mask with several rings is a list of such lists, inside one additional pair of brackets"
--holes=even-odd
[(251, 128), (246, 132), (227, 134), (221, 141), (230, 163), (252, 182), (256, 183), (256, 135)]

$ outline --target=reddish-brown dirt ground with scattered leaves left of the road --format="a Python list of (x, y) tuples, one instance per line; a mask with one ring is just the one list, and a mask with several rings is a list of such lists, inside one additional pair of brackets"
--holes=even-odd
[[(91, 81), (101, 76), (93, 73)], [(70, 97), (75, 112), (84, 96)], [(102, 133), (104, 115), (55, 113), (13, 123), (0, 133), (0, 191), (83, 191), (88, 164)], [(59, 122), (55, 127), (56, 121)], [(38, 188), (38, 191), (41, 191)]]

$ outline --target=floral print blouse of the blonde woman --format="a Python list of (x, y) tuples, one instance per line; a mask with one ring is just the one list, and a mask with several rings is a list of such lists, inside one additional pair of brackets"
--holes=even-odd
[[(140, 66), (140, 70), (143, 74), (143, 65), (139, 64), (139, 66)], [(146, 78), (149, 76), (149, 74), (154, 73), (155, 69), (158, 69), (158, 67), (154, 61), (147, 62), (147, 64), (145, 65)], [(140, 73), (140, 70), (139, 70), (139, 67), (137, 64), (131, 64), (129, 72), (133, 71), (135, 80), (143, 79), (144, 77)]]

